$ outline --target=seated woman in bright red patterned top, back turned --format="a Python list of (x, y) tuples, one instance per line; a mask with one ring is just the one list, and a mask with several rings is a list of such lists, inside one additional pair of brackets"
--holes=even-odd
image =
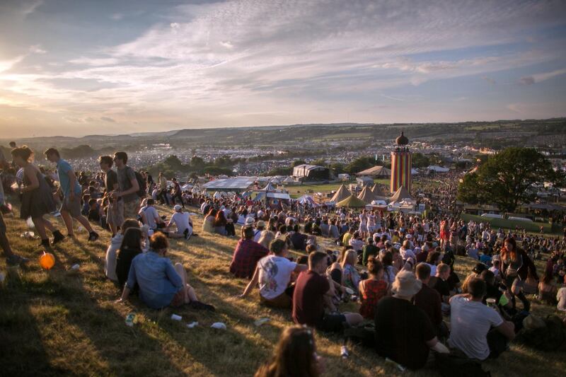
[(367, 261), (369, 278), (359, 282), (359, 313), (367, 320), (375, 318), (375, 307), (387, 295), (387, 282), (383, 280), (383, 265), (375, 257)]

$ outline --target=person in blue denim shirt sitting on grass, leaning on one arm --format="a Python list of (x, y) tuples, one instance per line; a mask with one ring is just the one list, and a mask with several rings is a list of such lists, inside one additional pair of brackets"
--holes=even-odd
[(136, 284), (139, 298), (147, 306), (161, 309), (166, 306), (178, 307), (190, 304), (195, 309), (214, 311), (214, 306), (198, 301), (195, 289), (187, 284), (187, 272), (180, 263), (173, 263), (165, 257), (168, 240), (162, 233), (151, 236), (149, 252), (139, 254), (132, 260), (122, 297), (118, 303), (127, 300)]

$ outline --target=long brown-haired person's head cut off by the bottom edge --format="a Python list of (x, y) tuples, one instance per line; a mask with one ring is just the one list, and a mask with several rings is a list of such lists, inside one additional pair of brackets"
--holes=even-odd
[(254, 377), (318, 377), (322, 374), (323, 365), (316, 354), (312, 330), (293, 326), (282, 332), (272, 360), (260, 366)]

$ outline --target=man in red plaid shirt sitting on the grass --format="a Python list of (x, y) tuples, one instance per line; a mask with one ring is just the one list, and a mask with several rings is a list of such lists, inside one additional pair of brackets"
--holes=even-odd
[(230, 272), (235, 277), (251, 279), (258, 260), (265, 257), (269, 250), (253, 241), (253, 228), (246, 226), (242, 230), (243, 238), (238, 241), (230, 263)]

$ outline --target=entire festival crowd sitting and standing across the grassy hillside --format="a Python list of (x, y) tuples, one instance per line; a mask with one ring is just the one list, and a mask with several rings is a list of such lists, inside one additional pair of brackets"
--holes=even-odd
[[(526, 292), (533, 285), (541, 302), (566, 311), (564, 238), (461, 221), (451, 216), (454, 185), (433, 190), (441, 200), (427, 216), (298, 202), (270, 206), (183, 190), (161, 173), (154, 181), (130, 168), (121, 151), (100, 156), (95, 176), (75, 172), (57, 149), (45, 151), (56, 175), (36, 166), (25, 146), (13, 145), (11, 155), (12, 166), (0, 156), (4, 170), (17, 168), (4, 188), (21, 198), (21, 219), (33, 221), (42, 248), (74, 238), (74, 221), (91, 242), (99, 238), (93, 224), (111, 233), (105, 275), (122, 292), (119, 302), (135, 294), (149, 308), (214, 311), (199, 300), (183, 265), (167, 257), (168, 238), (197, 236), (185, 207), (200, 212), (203, 233), (238, 234), (226, 269), (234, 279), (246, 279), (240, 297), (288, 311), (295, 324), (256, 376), (319, 375), (314, 329), (345, 333), (371, 324), (379, 355), (421, 369), (433, 354), (473, 361), (499, 356), (530, 315)], [(173, 207), (171, 219), (156, 204)], [(66, 234), (47, 219), (50, 214), (61, 216)], [(27, 262), (11, 250), (1, 216), (0, 245), (9, 264)], [(473, 260), (466, 279), (456, 274), (456, 255)], [(534, 261), (543, 258), (539, 279)], [(350, 301), (359, 301), (358, 311), (341, 310)]]

